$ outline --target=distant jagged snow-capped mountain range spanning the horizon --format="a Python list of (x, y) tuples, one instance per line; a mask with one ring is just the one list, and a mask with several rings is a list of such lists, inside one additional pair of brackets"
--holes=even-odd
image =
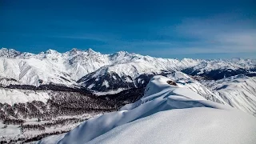
[(0, 84), (5, 86), (54, 83), (108, 91), (146, 86), (148, 76), (176, 70), (214, 80), (237, 74), (254, 76), (256, 60), (178, 60), (125, 51), (100, 54), (91, 49), (72, 49), (66, 53), (47, 50), (40, 54), (21, 53), (6, 48), (0, 50)]

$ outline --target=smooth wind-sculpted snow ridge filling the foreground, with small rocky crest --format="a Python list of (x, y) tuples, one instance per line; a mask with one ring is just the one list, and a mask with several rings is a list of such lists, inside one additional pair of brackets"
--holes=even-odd
[(154, 76), (144, 96), (38, 143), (254, 143), (256, 118)]

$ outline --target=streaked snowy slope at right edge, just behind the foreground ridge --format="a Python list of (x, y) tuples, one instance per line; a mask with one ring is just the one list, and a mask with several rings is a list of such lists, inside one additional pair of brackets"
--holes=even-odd
[(256, 116), (256, 77), (240, 74), (203, 84), (230, 106)]

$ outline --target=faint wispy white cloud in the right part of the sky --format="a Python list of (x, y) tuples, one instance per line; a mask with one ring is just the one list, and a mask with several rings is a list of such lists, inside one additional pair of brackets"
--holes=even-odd
[(176, 27), (180, 37), (193, 38), (185, 50), (194, 53), (238, 53), (256, 51), (256, 28), (252, 21), (230, 19), (186, 19)]

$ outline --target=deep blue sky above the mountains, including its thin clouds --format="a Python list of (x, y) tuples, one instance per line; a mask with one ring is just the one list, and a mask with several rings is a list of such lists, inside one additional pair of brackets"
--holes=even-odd
[(256, 2), (0, 0), (0, 46), (162, 58), (256, 58)]

